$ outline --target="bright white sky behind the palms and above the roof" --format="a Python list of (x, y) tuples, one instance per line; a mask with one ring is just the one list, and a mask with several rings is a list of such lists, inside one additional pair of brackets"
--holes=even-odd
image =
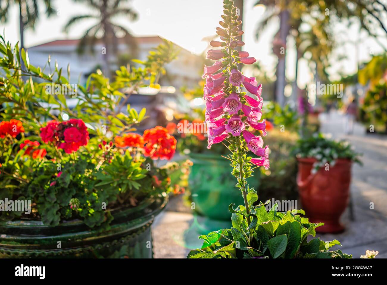
[[(57, 15), (47, 19), (43, 12), (36, 29), (25, 31), (25, 46), (31, 47), (47, 41), (57, 39), (80, 38), (84, 31), (92, 24), (92, 20), (83, 21), (73, 26), (70, 33), (63, 33), (63, 26), (68, 19), (74, 15), (88, 13), (89, 7), (72, 0), (54, 0)], [(276, 56), (271, 52), (271, 42), (276, 33), (279, 23), (272, 22), (256, 40), (257, 23), (265, 16), (265, 8), (262, 5), (253, 7), (257, 0), (245, 0), (243, 10), (243, 50), (249, 52), (250, 56), (260, 60), (262, 67), (274, 74)], [(41, 5), (43, 6), (43, 5)], [(222, 0), (133, 0), (132, 7), (137, 11), (137, 21), (130, 22), (124, 17), (117, 17), (116, 22), (126, 26), (133, 35), (159, 35), (175, 42), (193, 53), (200, 54), (206, 47), (207, 42), (203, 38), (216, 35), (215, 28), (219, 26), (223, 11)], [(6, 39), (12, 43), (19, 40), (19, 11), (14, 7), (10, 13), (9, 22), (0, 26), (1, 31), (5, 28)], [(357, 70), (357, 62), (370, 60), (372, 54), (382, 52), (377, 43), (366, 35), (359, 35), (357, 28), (347, 29), (345, 26), (337, 25), (335, 35), (338, 40), (346, 43), (338, 48), (334, 54), (343, 54), (347, 59), (340, 62), (332, 62), (329, 69), (331, 79), (338, 79), (339, 73), (353, 74)], [(360, 40), (359, 40), (360, 39)], [(387, 47), (387, 41), (381, 40)], [(354, 43), (358, 44), (358, 52)], [(293, 41), (289, 37), (286, 62), (286, 76), (294, 79), (295, 76), (295, 49)], [(313, 74), (306, 60), (299, 61), (298, 86), (304, 88), (313, 80)]]

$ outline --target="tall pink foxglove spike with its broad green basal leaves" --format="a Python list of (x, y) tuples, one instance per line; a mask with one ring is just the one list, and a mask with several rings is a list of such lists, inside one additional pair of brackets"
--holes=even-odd
[[(337, 240), (322, 242), (319, 238), (307, 241), (308, 235), (315, 235), (315, 228), (322, 223), (311, 223), (301, 217), (303, 211), (277, 211), (274, 205), (269, 212), (264, 203), (255, 205), (258, 201), (257, 192), (251, 188), (246, 179), (251, 176), (253, 168), (263, 166), (269, 169), (268, 146), (263, 147), (261, 136), (253, 135), (248, 129), (254, 128), (266, 135), (265, 119), (262, 116), (262, 85), (255, 78), (248, 78), (238, 71), (237, 64), (252, 64), (253, 57), (247, 52), (238, 52), (235, 47), (244, 45), (238, 40), (243, 31), (238, 29), (236, 7), (232, 0), (224, 0), (222, 28), (217, 28), (222, 41), (212, 41), (213, 47), (220, 50), (210, 50), (208, 57), (221, 60), (222, 69), (219, 73), (213, 71), (206, 74), (205, 99), (210, 102), (224, 100), (229, 105), (227, 111), (206, 109), (206, 119), (209, 122), (209, 145), (227, 142), (232, 174), (237, 183), (236, 191), (243, 195), (244, 205), (235, 207), (229, 205), (232, 212), (232, 228), (213, 231), (201, 235), (204, 240), (200, 249), (191, 250), (189, 258), (350, 258), (340, 250), (329, 251)], [(214, 68), (215, 69), (215, 68)], [(218, 80), (218, 81), (216, 81)], [(215, 83), (216, 82), (216, 83)], [(220, 86), (219, 89), (217, 89)], [(241, 92), (244, 87), (248, 93)], [(219, 96), (222, 95), (222, 96)], [(219, 97), (217, 97), (219, 96)], [(234, 108), (231, 108), (234, 107)], [(219, 112), (219, 113), (214, 113)], [(254, 156), (250, 156), (250, 151)]]

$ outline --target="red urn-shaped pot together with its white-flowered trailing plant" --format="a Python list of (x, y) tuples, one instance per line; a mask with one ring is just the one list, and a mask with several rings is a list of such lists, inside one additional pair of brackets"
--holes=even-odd
[(298, 141), (297, 185), (303, 208), (313, 222), (323, 222), (317, 231), (344, 230), (339, 219), (349, 201), (352, 162), (359, 154), (344, 141), (315, 134)]

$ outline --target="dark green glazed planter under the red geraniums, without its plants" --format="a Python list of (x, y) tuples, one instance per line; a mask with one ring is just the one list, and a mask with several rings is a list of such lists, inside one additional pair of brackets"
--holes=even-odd
[(0, 222), (0, 258), (152, 258), (151, 224), (167, 202), (164, 193), (137, 207), (113, 210), (109, 230), (80, 220), (54, 227), (33, 220)]

